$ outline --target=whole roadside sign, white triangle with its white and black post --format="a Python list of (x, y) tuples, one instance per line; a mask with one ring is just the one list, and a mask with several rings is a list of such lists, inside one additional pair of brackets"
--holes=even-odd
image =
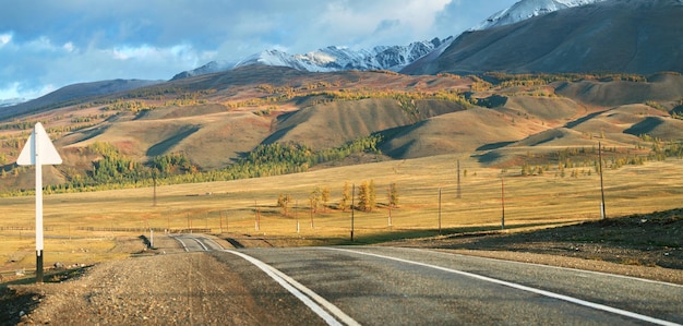
[(36, 123), (16, 159), (20, 166), (36, 166), (36, 282), (43, 282), (43, 166), (62, 162), (40, 122)]

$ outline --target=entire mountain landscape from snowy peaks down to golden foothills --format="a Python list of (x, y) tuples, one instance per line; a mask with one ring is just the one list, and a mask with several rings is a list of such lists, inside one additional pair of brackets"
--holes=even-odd
[[(532, 1), (560, 2), (523, 2)], [(0, 191), (33, 181), (13, 159), (34, 121), (48, 126), (64, 161), (46, 171), (47, 184), (85, 182), (105, 159), (95, 144), (130, 159), (123, 170), (182, 153), (213, 171), (261, 145), (332, 150), (372, 135), (382, 137), (381, 155), (326, 164), (462, 154), (506, 168), (597, 137), (628, 153), (648, 137), (681, 141), (682, 10), (680, 0), (606, 0), (409, 47), (354, 56), (328, 47), (296, 61), (266, 51), (166, 82), (71, 85), (0, 109), (2, 171), (16, 177), (0, 178)], [(368, 70), (339, 69), (349, 62)]]

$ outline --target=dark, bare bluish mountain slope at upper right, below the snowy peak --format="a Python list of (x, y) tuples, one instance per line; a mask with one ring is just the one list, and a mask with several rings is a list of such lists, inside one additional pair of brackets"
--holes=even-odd
[(683, 72), (683, 3), (611, 0), (467, 32), (403, 73)]

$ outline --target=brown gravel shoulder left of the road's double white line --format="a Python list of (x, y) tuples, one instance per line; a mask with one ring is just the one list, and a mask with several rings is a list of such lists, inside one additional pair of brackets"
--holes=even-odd
[[(236, 271), (249, 268), (254, 271)], [(259, 275), (230, 254), (159, 247), (88, 267), (61, 283), (12, 286), (12, 294), (34, 301), (35, 310), (22, 316), (15, 311), (1, 324), (274, 325), (296, 324), (293, 317), (307, 314), (317, 319), (298, 301), (281, 300), (288, 292)]]

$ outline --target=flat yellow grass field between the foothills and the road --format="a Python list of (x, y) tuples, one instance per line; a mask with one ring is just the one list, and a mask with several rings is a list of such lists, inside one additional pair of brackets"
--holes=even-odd
[[(363, 237), (379, 233), (388, 238), (415, 231), (438, 234), (440, 222), (443, 232), (500, 229), (503, 190), (505, 228), (511, 231), (598, 219), (600, 179), (595, 171), (588, 173), (589, 169), (577, 168), (576, 178), (570, 177), (571, 169), (566, 177), (560, 177), (552, 168), (543, 176), (520, 177), (518, 168), (502, 171), (484, 168), (469, 157), (444, 155), (280, 177), (158, 186), (156, 205), (153, 188), (45, 195), (45, 266), (125, 256), (133, 249), (142, 249), (135, 237), (149, 237), (149, 228), (163, 232), (191, 227), (230, 237), (265, 234), (340, 243), (348, 240), (351, 228), (350, 210), (335, 209), (345, 181), (359, 185), (372, 180), (376, 188), (378, 208), (354, 213), (355, 236), (361, 242)], [(607, 217), (681, 207), (682, 181), (681, 159), (606, 170)], [(391, 183), (398, 188), (399, 207), (391, 212), (390, 227), (385, 204)], [(329, 207), (311, 214), (308, 198), (317, 186), (329, 189)], [(295, 202), (288, 216), (276, 207), (279, 194), (289, 194)], [(35, 268), (35, 236), (31, 229), (35, 198), (0, 201), (0, 271)], [(123, 228), (132, 230), (123, 232)], [(128, 239), (128, 247), (120, 247), (120, 239)]]

